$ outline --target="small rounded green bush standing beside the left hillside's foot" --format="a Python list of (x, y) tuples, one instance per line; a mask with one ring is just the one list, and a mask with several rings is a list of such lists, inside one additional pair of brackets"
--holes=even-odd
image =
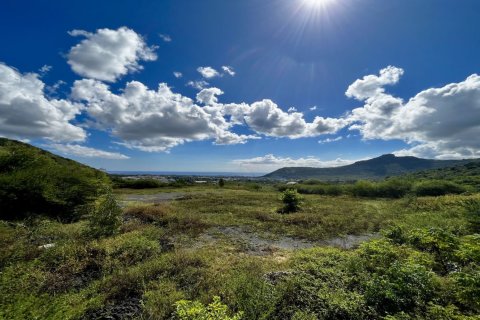
[(100, 197), (96, 208), (93, 210), (88, 221), (87, 233), (94, 238), (108, 237), (118, 232), (121, 220), (122, 208), (111, 191)]

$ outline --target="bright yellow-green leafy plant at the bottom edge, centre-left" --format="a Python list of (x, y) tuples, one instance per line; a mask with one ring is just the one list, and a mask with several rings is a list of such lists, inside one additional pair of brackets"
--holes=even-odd
[(175, 319), (178, 320), (240, 320), (242, 313), (229, 316), (228, 307), (220, 297), (213, 297), (213, 302), (205, 306), (198, 301), (180, 300), (176, 303)]

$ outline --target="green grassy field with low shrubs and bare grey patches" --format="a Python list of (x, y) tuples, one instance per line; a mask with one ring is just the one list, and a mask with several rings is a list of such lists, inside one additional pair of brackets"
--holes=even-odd
[[(115, 193), (111, 237), (83, 219), (0, 221), (0, 318), (171, 319), (219, 296), (243, 319), (478, 319), (477, 194), (305, 195), (280, 214), (269, 185)], [(335, 246), (347, 236), (355, 248)]]

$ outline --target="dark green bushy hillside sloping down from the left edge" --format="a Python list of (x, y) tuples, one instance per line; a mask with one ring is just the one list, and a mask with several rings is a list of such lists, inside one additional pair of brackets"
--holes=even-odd
[(99, 170), (0, 138), (0, 219), (44, 214), (74, 220), (109, 183)]

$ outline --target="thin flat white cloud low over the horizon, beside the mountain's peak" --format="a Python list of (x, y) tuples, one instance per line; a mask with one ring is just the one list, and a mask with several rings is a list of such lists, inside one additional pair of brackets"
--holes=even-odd
[(261, 157), (233, 160), (232, 164), (238, 165), (250, 171), (266, 172), (283, 167), (339, 167), (352, 164), (355, 161), (358, 160), (345, 160), (340, 158), (334, 160), (321, 160), (312, 156), (295, 159), (289, 157), (277, 157), (273, 154), (267, 154)]

